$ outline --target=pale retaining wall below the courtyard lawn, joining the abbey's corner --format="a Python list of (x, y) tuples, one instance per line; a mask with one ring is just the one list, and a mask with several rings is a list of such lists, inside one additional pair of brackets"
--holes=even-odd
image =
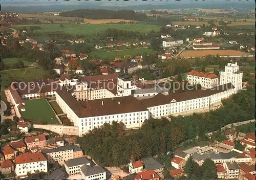
[(50, 125), (45, 125), (45, 124), (33, 124), (34, 128), (38, 129), (46, 129), (50, 130), (52, 132), (55, 132), (57, 134), (67, 134), (67, 135), (73, 135), (73, 136), (78, 136), (78, 127), (75, 126), (64, 126), (64, 125), (57, 125), (57, 124), (50, 124)]

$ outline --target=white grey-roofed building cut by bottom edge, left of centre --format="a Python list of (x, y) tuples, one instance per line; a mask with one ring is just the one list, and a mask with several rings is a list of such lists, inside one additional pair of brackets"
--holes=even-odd
[(82, 179), (106, 179), (106, 171), (101, 166), (83, 165), (80, 172)]

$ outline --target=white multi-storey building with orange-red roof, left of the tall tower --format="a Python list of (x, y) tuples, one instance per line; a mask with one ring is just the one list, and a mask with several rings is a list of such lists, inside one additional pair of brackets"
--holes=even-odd
[(201, 84), (202, 88), (211, 88), (219, 83), (218, 76), (211, 73), (191, 71), (186, 76), (190, 84)]

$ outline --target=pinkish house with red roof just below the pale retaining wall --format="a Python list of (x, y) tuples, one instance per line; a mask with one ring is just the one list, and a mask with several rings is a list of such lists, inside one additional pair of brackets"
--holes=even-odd
[(46, 146), (46, 136), (44, 134), (40, 134), (38, 136), (26, 137), (25, 143), (27, 144), (28, 149), (31, 149), (32, 147), (44, 149)]

